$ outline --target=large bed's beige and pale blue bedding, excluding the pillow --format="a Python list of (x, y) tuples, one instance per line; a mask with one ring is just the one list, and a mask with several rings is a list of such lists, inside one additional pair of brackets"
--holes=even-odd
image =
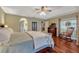
[(54, 48), (53, 39), (48, 33), (27, 31), (10, 32), (8, 35), (7, 39), (0, 41), (2, 53), (35, 53), (46, 47)]

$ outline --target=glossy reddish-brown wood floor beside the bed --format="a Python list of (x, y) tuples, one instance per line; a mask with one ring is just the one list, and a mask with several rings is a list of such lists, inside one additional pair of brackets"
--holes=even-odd
[(68, 41), (59, 37), (53, 37), (53, 39), (55, 48), (45, 48), (39, 53), (79, 53), (79, 46), (76, 45), (75, 41)]

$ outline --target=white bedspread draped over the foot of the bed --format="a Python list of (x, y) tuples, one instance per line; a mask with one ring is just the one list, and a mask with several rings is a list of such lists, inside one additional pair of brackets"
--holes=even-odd
[(27, 33), (33, 37), (35, 49), (39, 49), (44, 45), (49, 45), (49, 47), (52, 48), (54, 47), (54, 42), (51, 35), (37, 31), (28, 31)]

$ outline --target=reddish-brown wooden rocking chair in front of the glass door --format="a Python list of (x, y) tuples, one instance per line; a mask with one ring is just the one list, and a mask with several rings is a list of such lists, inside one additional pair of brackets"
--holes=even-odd
[(63, 34), (61, 35), (61, 37), (63, 39), (68, 39), (69, 41), (71, 41), (71, 36), (73, 34), (74, 31), (74, 27), (68, 27), (66, 32), (63, 32)]

